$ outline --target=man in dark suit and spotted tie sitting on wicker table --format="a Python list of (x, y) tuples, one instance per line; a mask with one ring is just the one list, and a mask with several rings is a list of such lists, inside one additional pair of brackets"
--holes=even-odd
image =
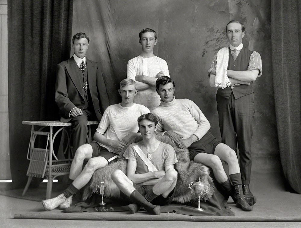
[(89, 37), (76, 33), (72, 38), (74, 55), (57, 64), (55, 102), (61, 122), (72, 123), (73, 154), (87, 139), (87, 121), (100, 121), (110, 105), (106, 86), (97, 62), (86, 58)]

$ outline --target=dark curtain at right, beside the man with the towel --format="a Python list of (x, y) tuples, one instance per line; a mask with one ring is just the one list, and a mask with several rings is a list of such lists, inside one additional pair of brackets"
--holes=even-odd
[(290, 186), (301, 193), (300, 0), (273, 0), (272, 65), (281, 164)]

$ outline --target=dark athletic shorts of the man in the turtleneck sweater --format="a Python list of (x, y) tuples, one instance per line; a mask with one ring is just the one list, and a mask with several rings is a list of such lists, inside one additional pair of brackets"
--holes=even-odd
[(195, 155), (198, 153), (206, 153), (214, 155), (215, 148), (221, 142), (216, 139), (209, 131), (201, 138), (188, 147), (189, 158), (193, 161)]

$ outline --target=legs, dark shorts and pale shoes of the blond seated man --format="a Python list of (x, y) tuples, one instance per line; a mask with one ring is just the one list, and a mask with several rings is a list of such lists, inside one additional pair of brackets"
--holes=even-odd
[[(46, 211), (60, 207), (68, 208), (72, 204), (72, 197), (84, 187), (91, 179), (95, 170), (107, 166), (107, 164), (117, 158), (117, 155), (107, 151), (106, 148), (91, 142), (81, 145), (75, 153), (71, 164), (67, 189), (60, 195), (42, 201)], [(84, 160), (88, 160), (82, 169)]]

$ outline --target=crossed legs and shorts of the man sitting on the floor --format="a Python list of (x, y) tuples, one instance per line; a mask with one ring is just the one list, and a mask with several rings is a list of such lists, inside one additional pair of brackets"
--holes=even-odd
[[(151, 214), (160, 214), (160, 205), (168, 205), (173, 198), (178, 173), (170, 168), (154, 186), (140, 186), (133, 183), (121, 170), (115, 170), (111, 178), (133, 204), (129, 205), (131, 214), (143, 207)], [(122, 194), (121, 194), (122, 195)], [(159, 203), (160, 202), (160, 203)]]

